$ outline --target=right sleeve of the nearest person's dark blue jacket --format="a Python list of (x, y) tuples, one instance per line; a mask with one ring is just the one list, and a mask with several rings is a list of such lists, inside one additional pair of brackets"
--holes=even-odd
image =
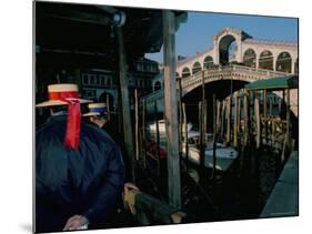
[(114, 145), (108, 155), (108, 169), (104, 181), (93, 203), (84, 213), (90, 224), (101, 224), (114, 207), (124, 184), (124, 165), (120, 150)]

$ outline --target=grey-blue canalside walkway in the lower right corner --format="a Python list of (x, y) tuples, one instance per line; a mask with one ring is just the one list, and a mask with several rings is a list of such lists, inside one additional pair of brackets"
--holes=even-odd
[(260, 217), (299, 215), (298, 151), (291, 153)]

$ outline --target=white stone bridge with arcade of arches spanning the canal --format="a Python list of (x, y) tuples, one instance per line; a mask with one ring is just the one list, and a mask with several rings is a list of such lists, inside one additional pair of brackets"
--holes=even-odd
[[(242, 30), (230, 28), (213, 37), (213, 48), (177, 62), (177, 79), (181, 79), (185, 101), (201, 95), (203, 83), (207, 92), (223, 99), (245, 83), (295, 73), (296, 42), (256, 40)], [(153, 80), (153, 92), (144, 96), (148, 110), (153, 110), (154, 100), (159, 110), (163, 110), (162, 88), (163, 77), (160, 74)], [(296, 115), (298, 90), (291, 90), (291, 109)]]

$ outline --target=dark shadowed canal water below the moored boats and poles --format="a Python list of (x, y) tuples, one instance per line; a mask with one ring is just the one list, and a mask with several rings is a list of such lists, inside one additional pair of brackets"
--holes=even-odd
[[(151, 140), (154, 139), (154, 135), (151, 135)], [(160, 138), (160, 146), (165, 151), (165, 138)], [(255, 150), (250, 146), (238, 151), (239, 156), (229, 170), (217, 171), (213, 181), (209, 179), (211, 169), (203, 173), (207, 177), (198, 180), (202, 173), (201, 169), (187, 162), (181, 163), (182, 204), (183, 211), (189, 214), (185, 222), (249, 220), (260, 216), (282, 170), (280, 154), (270, 147)], [(165, 200), (165, 159), (161, 159), (159, 176), (155, 160), (148, 161), (154, 189), (151, 189), (151, 183), (142, 186), (147, 192)]]

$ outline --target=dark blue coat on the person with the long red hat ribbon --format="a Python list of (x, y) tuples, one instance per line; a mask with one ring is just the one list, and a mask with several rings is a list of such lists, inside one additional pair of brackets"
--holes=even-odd
[(67, 116), (53, 116), (36, 132), (36, 231), (61, 231), (67, 220), (84, 215), (105, 222), (124, 183), (119, 147), (101, 129), (81, 122), (80, 146), (63, 146)]

